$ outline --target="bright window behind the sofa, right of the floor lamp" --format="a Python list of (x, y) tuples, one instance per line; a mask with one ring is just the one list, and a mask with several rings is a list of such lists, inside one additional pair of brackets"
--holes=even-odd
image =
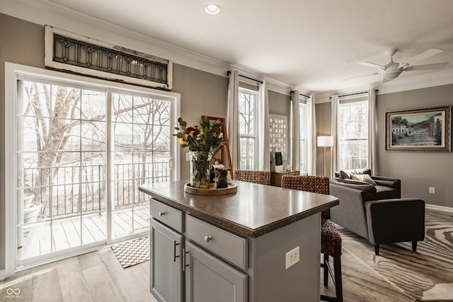
[(368, 101), (340, 100), (338, 108), (338, 168), (360, 169), (368, 165)]

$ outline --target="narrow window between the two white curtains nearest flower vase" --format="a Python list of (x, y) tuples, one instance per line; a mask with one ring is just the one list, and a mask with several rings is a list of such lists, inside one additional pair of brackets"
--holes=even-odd
[(241, 170), (256, 170), (256, 100), (258, 92), (239, 88), (239, 139)]

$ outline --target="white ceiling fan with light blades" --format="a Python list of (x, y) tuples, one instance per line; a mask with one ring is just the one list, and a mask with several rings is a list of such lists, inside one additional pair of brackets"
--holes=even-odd
[(429, 57), (435, 56), (436, 54), (440, 54), (443, 50), (438, 50), (437, 48), (432, 48), (421, 54), (417, 54), (415, 57), (411, 57), (407, 59), (406, 62), (397, 63), (394, 62), (394, 54), (396, 54), (397, 50), (387, 50), (386, 54), (390, 56), (390, 62), (385, 64), (384, 66), (379, 64), (374, 64), (370, 62), (360, 62), (358, 64), (363, 66), (368, 66), (372, 68), (380, 69), (381, 71), (375, 74), (369, 74), (367, 76), (377, 75), (382, 76), (384, 82), (390, 81), (395, 79), (399, 76), (403, 71), (415, 71), (415, 70), (426, 70), (426, 69), (440, 69), (447, 66), (448, 62), (445, 63), (436, 63), (436, 64), (425, 64), (425, 65), (413, 65), (414, 63), (423, 61), (424, 59), (428, 59)]

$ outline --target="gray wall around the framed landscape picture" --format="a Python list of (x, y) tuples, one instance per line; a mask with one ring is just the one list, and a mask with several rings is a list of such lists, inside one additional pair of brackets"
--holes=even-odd
[[(403, 197), (453, 207), (453, 153), (385, 151), (385, 112), (452, 105), (452, 95), (453, 84), (377, 95), (377, 173), (401, 178)], [(428, 194), (428, 187), (436, 194)]]

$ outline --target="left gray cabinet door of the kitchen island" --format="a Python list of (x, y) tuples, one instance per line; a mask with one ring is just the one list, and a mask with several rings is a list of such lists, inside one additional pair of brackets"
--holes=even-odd
[(158, 301), (183, 301), (183, 236), (151, 219), (150, 291)]

